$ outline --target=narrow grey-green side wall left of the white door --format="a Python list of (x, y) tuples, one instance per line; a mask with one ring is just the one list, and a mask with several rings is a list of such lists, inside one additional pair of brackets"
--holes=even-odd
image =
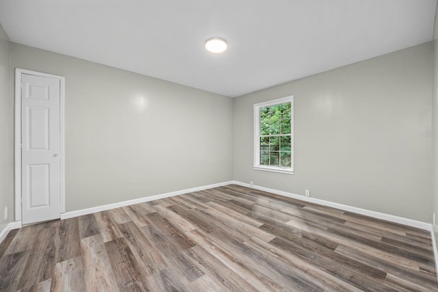
[[(0, 231), (12, 221), (14, 191), (14, 103), (10, 90), (10, 41), (0, 25)], [(9, 208), (4, 220), (5, 207)]]

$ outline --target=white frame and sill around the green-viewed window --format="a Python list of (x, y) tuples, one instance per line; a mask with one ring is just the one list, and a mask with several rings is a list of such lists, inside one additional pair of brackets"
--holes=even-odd
[[(260, 164), (260, 108), (270, 105), (278, 105), (280, 103), (290, 103), (290, 134), (291, 134), (291, 163), (290, 168), (281, 168), (279, 166), (268, 166)], [(272, 101), (254, 104), (254, 170), (263, 170), (267, 172), (280, 172), (283, 174), (294, 174), (294, 96), (286, 96), (277, 98)]]

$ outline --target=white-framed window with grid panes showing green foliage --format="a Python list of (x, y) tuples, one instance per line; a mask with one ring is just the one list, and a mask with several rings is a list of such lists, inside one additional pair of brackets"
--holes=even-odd
[(254, 105), (254, 169), (294, 174), (294, 96)]

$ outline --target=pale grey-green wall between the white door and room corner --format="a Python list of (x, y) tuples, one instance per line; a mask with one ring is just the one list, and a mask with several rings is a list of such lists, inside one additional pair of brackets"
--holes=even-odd
[(12, 68), (66, 79), (66, 211), (231, 181), (231, 98), (15, 43)]

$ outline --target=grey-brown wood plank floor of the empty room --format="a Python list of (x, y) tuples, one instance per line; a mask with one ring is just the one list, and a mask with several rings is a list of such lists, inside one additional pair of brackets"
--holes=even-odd
[(228, 185), (12, 230), (0, 291), (438, 291), (430, 234)]

